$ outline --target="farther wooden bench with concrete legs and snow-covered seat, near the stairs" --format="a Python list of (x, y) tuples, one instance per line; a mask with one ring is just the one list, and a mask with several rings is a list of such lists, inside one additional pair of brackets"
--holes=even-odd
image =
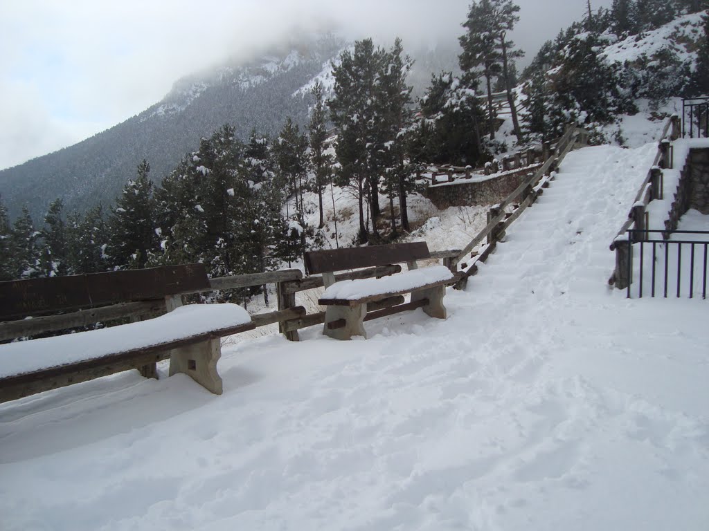
[[(442, 265), (418, 269), (416, 262), (428, 258), (425, 241), (305, 253), (306, 273), (323, 275), (325, 293), (318, 302), (326, 307), (325, 335), (336, 339), (366, 338), (364, 321), (416, 308), (445, 319), (445, 287), (457, 277)], [(397, 263), (406, 263), (408, 271), (381, 278), (336, 281), (337, 271)], [(407, 293), (411, 293), (411, 301), (405, 304), (403, 295)]]

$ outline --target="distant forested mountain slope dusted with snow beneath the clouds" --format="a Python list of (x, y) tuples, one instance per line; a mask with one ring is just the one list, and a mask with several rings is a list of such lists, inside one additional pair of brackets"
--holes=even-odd
[(0, 171), (0, 193), (10, 216), (30, 205), (35, 220), (54, 198), (67, 210), (110, 203), (141, 160), (160, 181), (199, 139), (225, 122), (240, 137), (252, 129), (277, 132), (286, 116), (304, 122), (306, 95), (296, 91), (337, 56), (344, 42), (320, 38), (275, 50), (247, 64), (221, 67), (178, 81), (163, 101), (72, 147)]

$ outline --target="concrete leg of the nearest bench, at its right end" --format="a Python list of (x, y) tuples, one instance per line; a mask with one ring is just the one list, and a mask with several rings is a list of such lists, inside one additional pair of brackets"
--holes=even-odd
[(169, 375), (184, 372), (205, 389), (214, 394), (222, 394), (222, 379), (217, 372), (219, 358), (221, 345), (218, 338), (175, 348), (170, 352)]

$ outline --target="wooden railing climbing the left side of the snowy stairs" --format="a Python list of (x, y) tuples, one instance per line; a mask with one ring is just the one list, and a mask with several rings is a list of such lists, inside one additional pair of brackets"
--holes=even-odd
[[(544, 164), (535, 173), (526, 178), (520, 185), (507, 196), (503, 202), (490, 208), (488, 212), (488, 223), (476, 236), (465, 246), (460, 254), (453, 259), (453, 263), (459, 264), (464, 271), (463, 278), (456, 287), (461, 289), (467, 283), (467, 278), (477, 273), (477, 261), (485, 262), (489, 254), (495, 249), (496, 244), (505, 236), (506, 229), (515, 219), (532, 205), (537, 197), (544, 193), (549, 181), (553, 179), (553, 172), (559, 167), (562, 160), (576, 145), (586, 145), (588, 143), (588, 132), (569, 125), (561, 138), (556, 142)], [(512, 212), (507, 212), (507, 208), (513, 205)], [(486, 240), (486, 244), (483, 241)], [(481, 249), (474, 251), (476, 246), (483, 244)], [(472, 263), (466, 261), (471, 258)]]

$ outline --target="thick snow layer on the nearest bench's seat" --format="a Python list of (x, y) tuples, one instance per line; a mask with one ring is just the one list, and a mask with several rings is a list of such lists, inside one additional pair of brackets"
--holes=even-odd
[(0, 377), (160, 345), (251, 321), (236, 304), (191, 304), (155, 319), (113, 328), (0, 345)]

